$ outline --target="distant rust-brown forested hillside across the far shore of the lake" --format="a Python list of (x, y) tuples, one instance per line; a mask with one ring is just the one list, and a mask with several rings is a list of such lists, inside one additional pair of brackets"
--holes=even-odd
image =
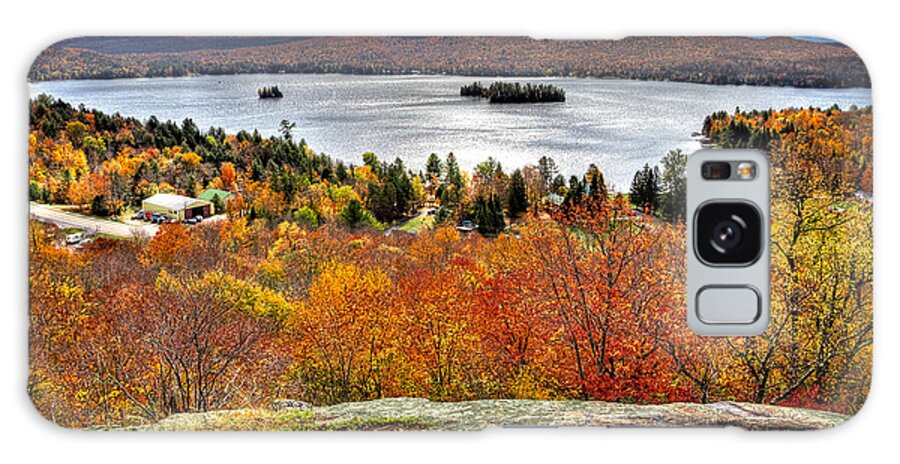
[[(241, 46), (246, 45), (246, 46)], [(236, 47), (236, 48), (235, 48)], [(849, 48), (790, 38), (79, 38), (49, 47), (29, 79), (243, 73), (577, 76), (704, 84), (869, 87)]]

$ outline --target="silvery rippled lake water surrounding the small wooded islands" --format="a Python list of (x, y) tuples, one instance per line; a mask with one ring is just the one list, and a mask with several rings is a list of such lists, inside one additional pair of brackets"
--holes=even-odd
[[(490, 105), (460, 97), (459, 87), (480, 80), (543, 82), (566, 91), (564, 103)], [(256, 90), (278, 85), (285, 97), (260, 100)], [(223, 127), (272, 135), (287, 119), (296, 139), (316, 152), (355, 164), (361, 154), (400, 157), (424, 168), (430, 153), (453, 152), (464, 169), (489, 156), (507, 171), (552, 157), (567, 177), (595, 163), (607, 182), (627, 190), (634, 172), (656, 164), (666, 152), (700, 148), (692, 133), (715, 111), (870, 105), (870, 89), (798, 89), (711, 86), (565, 78), (474, 78), (461, 76), (351, 76), (279, 74), (117, 80), (71, 80), (28, 84), (32, 96), (48, 93), (72, 104), (119, 112), (142, 120), (151, 115), (201, 128)]]

